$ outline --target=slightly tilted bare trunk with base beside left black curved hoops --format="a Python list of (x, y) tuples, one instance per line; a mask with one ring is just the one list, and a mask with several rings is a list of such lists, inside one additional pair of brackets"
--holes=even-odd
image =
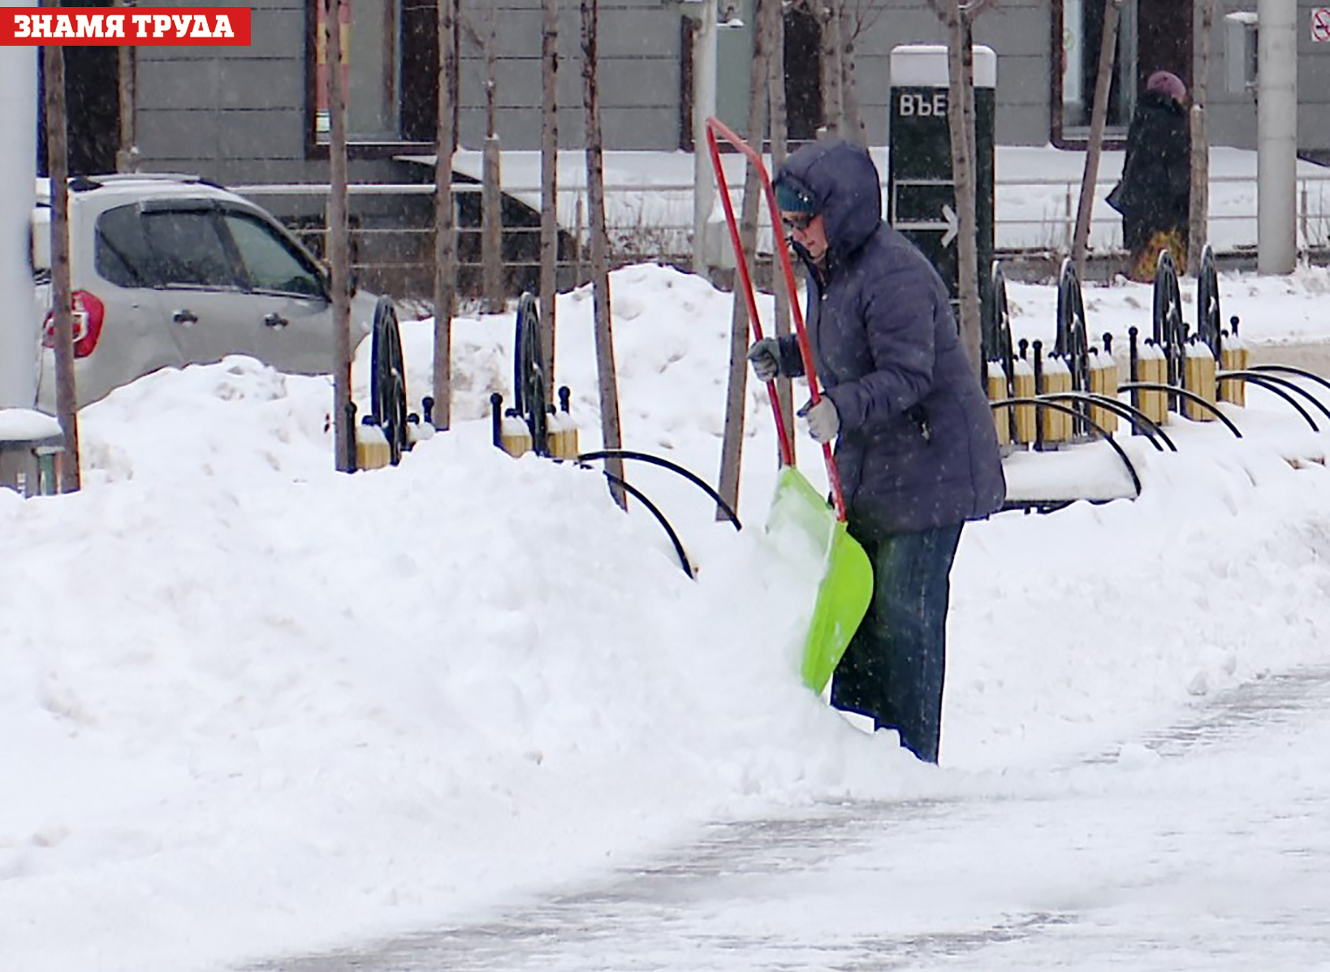
[[(600, 134), (600, 86), (597, 82), (598, 0), (581, 0), (583, 81), (587, 93), (587, 221), (591, 229), (591, 277), (596, 311), (596, 364), (600, 372), (600, 424), (606, 449), (622, 447), (618, 427), (618, 378), (614, 371), (614, 335), (609, 319), (609, 258), (605, 238), (605, 168)], [(605, 471), (624, 477), (621, 459), (606, 459)], [(610, 483), (614, 501), (628, 508), (628, 496)]]

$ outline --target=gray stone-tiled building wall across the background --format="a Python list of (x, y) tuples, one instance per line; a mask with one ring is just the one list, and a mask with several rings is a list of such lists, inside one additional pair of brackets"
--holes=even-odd
[[(307, 8), (315, 0), (258, 0), (249, 48), (140, 48), (138, 144), (145, 168), (197, 172), (222, 182), (323, 181), (327, 164), (307, 153)], [(141, 0), (141, 7), (165, 0)], [(484, 29), (489, 0), (466, 0)], [(1299, 0), (1299, 134), (1305, 149), (1330, 149), (1330, 44), (1314, 44), (1311, 9)], [(213, 4), (200, 4), (213, 5)], [(540, 0), (492, 0), (499, 39), (497, 132), (504, 148), (533, 149), (540, 137)], [(1221, 0), (1220, 13), (1253, 9)], [(680, 142), (682, 31), (668, 0), (601, 0), (601, 100), (608, 148), (672, 150)], [(1004, 0), (975, 25), (998, 52), (998, 141), (1043, 145), (1051, 124), (1051, 5)], [(858, 86), (868, 138), (886, 141), (888, 56), (904, 43), (942, 43), (927, 0), (891, 3), (858, 43)], [(1213, 37), (1210, 133), (1217, 145), (1254, 148), (1256, 109), (1248, 94), (1224, 90), (1222, 16)], [(580, 4), (560, 12), (561, 144), (583, 140)], [(735, 72), (746, 78), (746, 69)], [(746, 86), (746, 80), (745, 80)], [(484, 137), (484, 61), (473, 43), (462, 60), (460, 136)], [(428, 149), (426, 149), (428, 150)], [(391, 161), (354, 162), (354, 178), (402, 178)]]

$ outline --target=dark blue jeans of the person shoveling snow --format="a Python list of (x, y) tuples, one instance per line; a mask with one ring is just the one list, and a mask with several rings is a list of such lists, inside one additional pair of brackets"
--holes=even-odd
[(831, 682), (831, 705), (895, 729), (928, 763), (938, 762), (942, 737), (948, 577), (962, 525), (861, 540), (872, 561), (872, 601)]

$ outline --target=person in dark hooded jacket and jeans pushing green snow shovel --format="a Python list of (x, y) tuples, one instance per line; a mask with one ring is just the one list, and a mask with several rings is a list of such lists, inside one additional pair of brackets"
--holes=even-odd
[[(928, 259), (882, 221), (878, 170), (841, 141), (794, 152), (775, 178), (807, 269), (807, 328), (825, 398), (805, 407), (835, 457), (850, 533), (874, 566), (868, 613), (831, 702), (938, 761), (948, 574), (966, 520), (1005, 496), (988, 400)], [(793, 338), (749, 351), (762, 380), (803, 374)]]

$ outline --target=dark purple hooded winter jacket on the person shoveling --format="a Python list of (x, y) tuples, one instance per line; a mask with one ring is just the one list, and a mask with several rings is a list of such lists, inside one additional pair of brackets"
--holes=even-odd
[[(987, 396), (946, 285), (882, 221), (868, 153), (813, 142), (775, 181), (810, 195), (826, 222), (823, 266), (809, 263), (807, 326), (818, 379), (841, 415), (835, 457), (853, 532), (880, 539), (998, 511), (1007, 487)], [(782, 371), (802, 375), (795, 342), (781, 351)]]

